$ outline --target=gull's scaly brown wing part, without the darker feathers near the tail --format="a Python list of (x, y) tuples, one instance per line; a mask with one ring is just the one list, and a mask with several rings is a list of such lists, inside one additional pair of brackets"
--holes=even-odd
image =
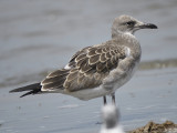
[(69, 62), (69, 72), (63, 86), (67, 91), (92, 89), (102, 84), (103, 79), (124, 59), (125, 48), (112, 42), (79, 51)]

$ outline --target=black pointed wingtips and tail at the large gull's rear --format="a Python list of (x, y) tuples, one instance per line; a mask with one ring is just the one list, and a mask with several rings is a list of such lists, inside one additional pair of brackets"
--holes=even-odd
[(29, 91), (27, 93), (24, 93), (23, 95), (21, 95), (20, 98), (23, 98), (25, 95), (29, 95), (29, 94), (38, 94), (41, 92), (41, 88), (42, 85), (40, 83), (34, 83), (34, 84), (30, 84), (30, 85), (27, 85), (27, 86), (22, 86), (22, 88), (18, 88), (18, 89), (14, 89), (14, 90), (11, 90), (11, 92), (22, 92), (22, 91)]

